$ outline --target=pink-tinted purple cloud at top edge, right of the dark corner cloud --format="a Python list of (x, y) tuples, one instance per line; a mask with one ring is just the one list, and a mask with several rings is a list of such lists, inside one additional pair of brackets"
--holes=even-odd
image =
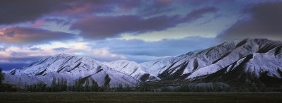
[(118, 7), (121, 12), (129, 12), (133, 8), (140, 6), (141, 0), (80, 0), (80, 1), (68, 1), (70, 9), (66, 11), (54, 12), (54, 15), (61, 16), (76, 16), (85, 17), (93, 15), (94, 13), (112, 13), (115, 8)]

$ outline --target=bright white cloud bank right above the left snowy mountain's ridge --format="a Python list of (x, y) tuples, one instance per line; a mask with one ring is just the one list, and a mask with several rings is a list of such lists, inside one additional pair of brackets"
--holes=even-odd
[[(88, 43), (87, 43), (88, 44)], [(107, 47), (89, 47), (83, 42), (67, 43), (66, 46), (45, 44), (45, 48), (39, 47), (8, 47), (6, 51), (0, 51), (0, 63), (32, 63), (47, 56), (56, 54), (71, 54), (76, 56), (88, 56), (98, 61), (113, 61), (126, 59), (122, 54), (114, 54)], [(55, 47), (55, 48), (54, 48)]]

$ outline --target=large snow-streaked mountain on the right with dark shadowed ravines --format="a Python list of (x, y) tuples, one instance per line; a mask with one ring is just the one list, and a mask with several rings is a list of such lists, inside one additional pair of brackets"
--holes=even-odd
[(266, 39), (224, 42), (202, 51), (141, 63), (162, 80), (231, 83), (280, 82), (282, 43)]

